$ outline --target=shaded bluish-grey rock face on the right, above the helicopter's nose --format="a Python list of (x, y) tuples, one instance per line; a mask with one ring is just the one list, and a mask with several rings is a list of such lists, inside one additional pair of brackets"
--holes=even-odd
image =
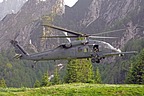
[(143, 0), (79, 0), (73, 8), (66, 7), (63, 18), (71, 23), (67, 25), (77, 24), (71, 29), (87, 33), (127, 27), (127, 31), (116, 33), (121, 39), (113, 42), (117, 47), (123, 47), (132, 38), (144, 35), (137, 28), (143, 26), (143, 4)]

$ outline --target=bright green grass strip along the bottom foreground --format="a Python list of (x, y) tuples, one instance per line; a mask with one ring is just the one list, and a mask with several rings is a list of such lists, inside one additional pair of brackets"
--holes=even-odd
[(144, 85), (75, 83), (41, 88), (0, 88), (0, 96), (144, 96)]

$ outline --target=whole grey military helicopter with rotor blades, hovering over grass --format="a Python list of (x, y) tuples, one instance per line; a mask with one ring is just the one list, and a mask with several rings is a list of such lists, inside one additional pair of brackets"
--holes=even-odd
[(63, 43), (57, 46), (55, 49), (39, 52), (35, 54), (30, 54), (30, 55), (19, 45), (17, 41), (11, 40), (10, 43), (14, 46), (15, 52), (17, 53), (15, 56), (16, 58), (33, 60), (33, 61), (91, 58), (92, 63), (100, 63), (100, 61), (105, 57), (115, 56), (115, 55), (123, 56), (124, 54), (137, 53), (136, 51), (122, 52), (120, 49), (114, 48), (111, 44), (107, 42), (88, 39), (88, 38), (96, 38), (96, 39), (115, 38), (115, 37), (103, 37), (98, 35), (107, 34), (110, 32), (115, 32), (115, 31), (120, 31), (125, 29), (90, 35), (90, 34), (75, 32), (54, 25), (45, 24), (43, 26), (47, 26), (53, 29), (67, 32), (71, 34), (71, 36), (68, 35), (67, 36), (45, 36), (41, 38), (84, 38), (84, 39)]

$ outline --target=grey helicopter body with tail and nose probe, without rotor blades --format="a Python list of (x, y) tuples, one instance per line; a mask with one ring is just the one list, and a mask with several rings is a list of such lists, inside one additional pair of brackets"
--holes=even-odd
[[(28, 54), (18, 44), (17, 41), (11, 40), (10, 42), (15, 47), (15, 52), (20, 59), (40, 61), (40, 60), (60, 60), (60, 59), (81, 59), (81, 58), (93, 58), (94, 61), (99, 61), (108, 56), (133, 54), (131, 52), (120, 52), (109, 43), (97, 40), (78, 40), (71, 43), (65, 43), (59, 45), (57, 48), (49, 51), (39, 52), (35, 54)], [(99, 51), (94, 52), (94, 45), (99, 46)]]

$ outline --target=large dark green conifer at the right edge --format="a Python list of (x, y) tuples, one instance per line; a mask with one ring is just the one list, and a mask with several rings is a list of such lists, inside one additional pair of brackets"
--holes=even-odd
[(144, 84), (144, 49), (131, 61), (126, 83)]

